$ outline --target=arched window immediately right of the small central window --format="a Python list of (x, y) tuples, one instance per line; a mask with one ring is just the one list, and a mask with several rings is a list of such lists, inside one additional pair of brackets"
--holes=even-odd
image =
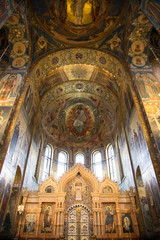
[(102, 180), (102, 154), (100, 151), (95, 151), (92, 156), (92, 169), (96, 176)]

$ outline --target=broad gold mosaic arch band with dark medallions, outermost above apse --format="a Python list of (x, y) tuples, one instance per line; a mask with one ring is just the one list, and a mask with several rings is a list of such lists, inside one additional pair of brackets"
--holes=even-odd
[[(77, 54), (81, 57), (77, 58)], [(36, 90), (41, 88), (41, 79), (44, 79), (48, 73), (54, 69), (73, 64), (84, 64), (99, 67), (100, 69), (104, 69), (110, 77), (115, 80), (118, 79), (120, 82), (124, 81), (126, 78), (128, 79), (123, 65), (109, 54), (83, 48), (66, 49), (50, 54), (39, 61), (30, 74), (33, 89)]]

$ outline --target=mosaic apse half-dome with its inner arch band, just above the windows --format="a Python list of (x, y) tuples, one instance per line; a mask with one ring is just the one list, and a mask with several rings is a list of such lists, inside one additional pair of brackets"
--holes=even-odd
[(87, 80), (56, 85), (42, 98), (40, 110), (45, 133), (59, 146), (104, 143), (119, 118), (113, 92)]

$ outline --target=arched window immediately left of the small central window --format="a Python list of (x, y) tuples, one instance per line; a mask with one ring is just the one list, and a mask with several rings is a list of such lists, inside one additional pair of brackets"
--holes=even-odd
[(68, 163), (68, 154), (64, 151), (58, 154), (57, 178), (59, 178), (66, 170)]

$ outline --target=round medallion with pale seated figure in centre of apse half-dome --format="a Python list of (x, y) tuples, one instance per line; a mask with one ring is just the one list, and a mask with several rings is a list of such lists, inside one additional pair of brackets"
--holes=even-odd
[(99, 130), (98, 109), (85, 98), (70, 100), (60, 111), (60, 119), (61, 131), (74, 142), (86, 141)]

